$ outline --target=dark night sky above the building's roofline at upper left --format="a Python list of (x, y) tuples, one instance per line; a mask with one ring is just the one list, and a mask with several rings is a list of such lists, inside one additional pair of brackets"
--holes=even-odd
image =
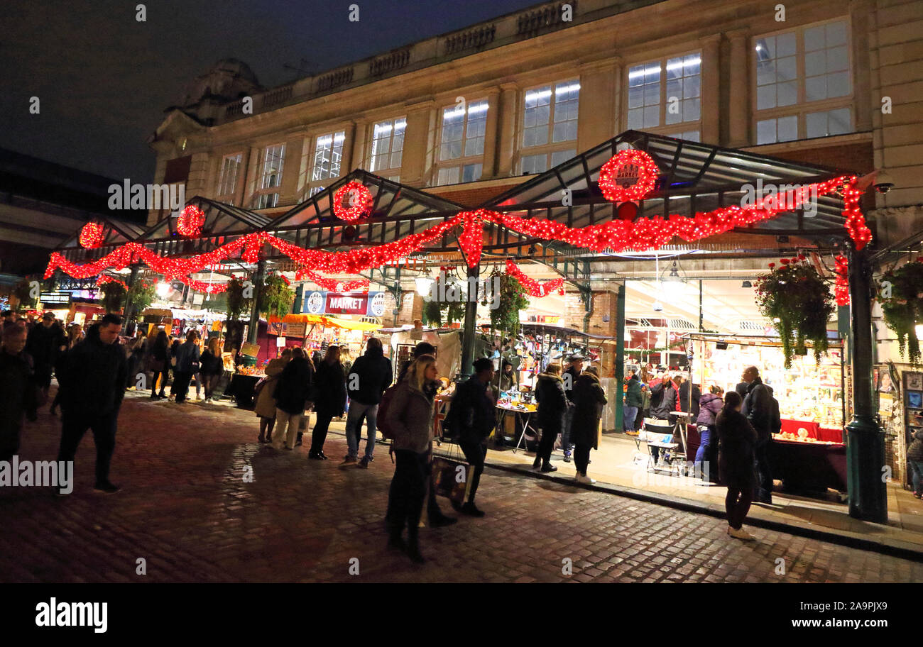
[[(152, 182), (163, 109), (222, 58), (272, 87), (536, 4), (535, 0), (2, 0), (0, 147)], [(357, 4), (359, 22), (348, 19)], [(306, 75), (300, 75), (306, 76)], [(41, 113), (30, 114), (30, 97)]]

